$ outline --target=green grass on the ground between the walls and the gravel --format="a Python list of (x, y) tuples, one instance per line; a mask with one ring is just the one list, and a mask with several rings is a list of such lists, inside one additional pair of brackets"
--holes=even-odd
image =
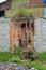
[[(46, 53), (37, 54), (39, 58), (43, 61), (46, 61)], [(25, 67), (34, 67), (37, 70), (46, 70), (46, 67), (40, 61), (31, 61), (31, 59), (28, 59), (27, 61), (22, 62), (21, 56), (20, 56), (20, 51), (16, 51), (14, 53), (10, 52), (0, 52), (0, 62), (15, 62)]]

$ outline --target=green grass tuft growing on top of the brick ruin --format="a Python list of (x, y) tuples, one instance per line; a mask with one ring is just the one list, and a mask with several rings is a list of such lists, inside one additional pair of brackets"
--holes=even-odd
[(21, 9), (18, 9), (18, 10), (13, 10), (13, 11), (9, 10), (9, 14), (6, 12), (6, 15), (10, 18), (15, 17), (16, 15), (30, 16), (31, 14), (33, 14), (33, 11), (32, 10), (25, 9), (25, 8), (21, 8)]

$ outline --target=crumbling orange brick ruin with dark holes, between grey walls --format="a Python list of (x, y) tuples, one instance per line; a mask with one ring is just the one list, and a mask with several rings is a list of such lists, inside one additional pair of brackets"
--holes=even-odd
[(27, 48), (34, 48), (34, 17), (18, 16), (12, 18), (11, 23), (11, 50), (15, 46), (24, 46)]

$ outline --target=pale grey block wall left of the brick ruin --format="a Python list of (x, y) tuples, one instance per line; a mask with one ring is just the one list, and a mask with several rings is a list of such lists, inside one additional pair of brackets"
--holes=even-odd
[(10, 19), (0, 18), (0, 51), (9, 51)]

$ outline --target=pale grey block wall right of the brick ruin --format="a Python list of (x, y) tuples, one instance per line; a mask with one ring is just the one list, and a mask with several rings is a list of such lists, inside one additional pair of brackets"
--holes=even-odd
[(35, 37), (34, 45), (37, 52), (46, 52), (46, 19), (36, 18), (35, 19)]

